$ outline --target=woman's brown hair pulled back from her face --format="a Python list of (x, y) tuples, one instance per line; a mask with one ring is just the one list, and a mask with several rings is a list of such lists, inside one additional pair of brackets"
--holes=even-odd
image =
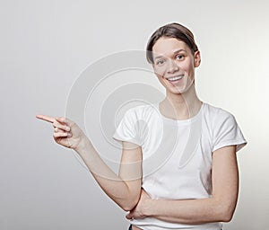
[(152, 33), (150, 40), (148, 41), (146, 48), (146, 58), (149, 63), (153, 63), (152, 57), (152, 48), (157, 40), (161, 37), (175, 38), (177, 40), (184, 41), (188, 48), (191, 49), (192, 54), (195, 54), (195, 51), (198, 50), (195, 43), (194, 34), (187, 29), (187, 27), (179, 23), (169, 23), (164, 26), (161, 26), (157, 31)]

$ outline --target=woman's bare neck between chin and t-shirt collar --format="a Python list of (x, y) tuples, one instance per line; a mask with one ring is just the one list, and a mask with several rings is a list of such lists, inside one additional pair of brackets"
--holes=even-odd
[(160, 110), (169, 119), (190, 119), (198, 113), (201, 105), (193, 84), (186, 93), (167, 92), (166, 98), (160, 103)]

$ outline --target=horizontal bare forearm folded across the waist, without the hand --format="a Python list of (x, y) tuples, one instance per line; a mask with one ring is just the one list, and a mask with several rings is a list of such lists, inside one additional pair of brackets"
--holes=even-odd
[(208, 199), (148, 199), (143, 208), (145, 217), (181, 224), (202, 224), (230, 221), (233, 210), (220, 200)]

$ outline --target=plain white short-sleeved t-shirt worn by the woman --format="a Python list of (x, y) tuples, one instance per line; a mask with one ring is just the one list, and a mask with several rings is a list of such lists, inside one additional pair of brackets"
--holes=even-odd
[[(159, 104), (126, 111), (113, 138), (142, 146), (143, 189), (152, 199), (203, 199), (212, 195), (212, 153), (223, 146), (247, 144), (228, 111), (203, 103), (191, 119), (161, 115)], [(221, 223), (186, 225), (153, 217), (134, 219), (143, 230), (219, 230)]]

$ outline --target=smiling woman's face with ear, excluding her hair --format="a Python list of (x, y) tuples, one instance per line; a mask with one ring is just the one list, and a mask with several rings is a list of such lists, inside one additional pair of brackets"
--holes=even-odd
[(194, 84), (199, 51), (193, 55), (184, 41), (162, 37), (152, 47), (153, 69), (167, 93), (186, 93)]

